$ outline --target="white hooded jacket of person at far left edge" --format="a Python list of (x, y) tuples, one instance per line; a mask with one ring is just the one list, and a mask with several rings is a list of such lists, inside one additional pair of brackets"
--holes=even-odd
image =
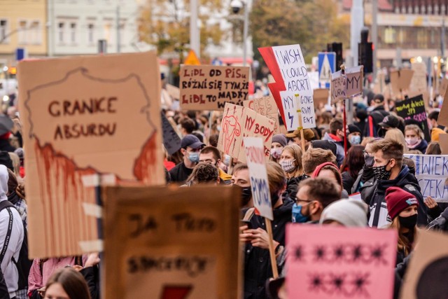
[[(4, 165), (0, 165), (0, 202), (8, 200), (6, 193), (8, 193), (8, 170)], [(11, 232), (8, 238), (9, 228)], [(10, 298), (14, 298), (18, 290), (19, 274), (13, 258), (14, 260), (19, 258), (23, 236), (23, 223), (17, 209), (10, 207), (2, 209), (0, 211), (0, 251), (4, 250), (5, 255), (1, 260), (1, 272), (5, 277)]]

